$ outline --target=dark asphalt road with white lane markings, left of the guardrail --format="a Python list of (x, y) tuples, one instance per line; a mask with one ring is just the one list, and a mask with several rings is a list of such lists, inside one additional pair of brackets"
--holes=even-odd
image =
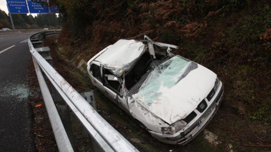
[(0, 35), (0, 152), (37, 151), (27, 85), (33, 34)]

